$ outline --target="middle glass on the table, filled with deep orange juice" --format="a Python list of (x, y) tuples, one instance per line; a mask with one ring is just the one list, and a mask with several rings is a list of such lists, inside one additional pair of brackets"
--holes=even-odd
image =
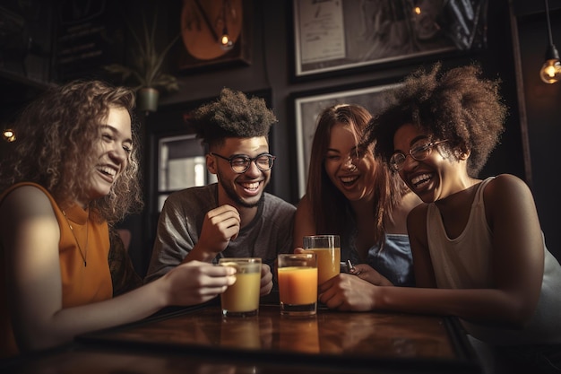
[(315, 253), (280, 254), (277, 265), (280, 314), (315, 316), (317, 310)]

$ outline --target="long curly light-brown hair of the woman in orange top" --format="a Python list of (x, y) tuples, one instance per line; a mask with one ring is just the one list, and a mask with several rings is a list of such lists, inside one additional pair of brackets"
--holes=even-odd
[(83, 196), (90, 165), (95, 163), (99, 125), (110, 108), (131, 116), (133, 148), (125, 170), (108, 196), (92, 201), (99, 220), (114, 223), (142, 210), (139, 139), (134, 121), (134, 92), (99, 81), (73, 81), (54, 86), (24, 109), (14, 124), (16, 145), (0, 167), (0, 191), (18, 182), (46, 187), (65, 208)]

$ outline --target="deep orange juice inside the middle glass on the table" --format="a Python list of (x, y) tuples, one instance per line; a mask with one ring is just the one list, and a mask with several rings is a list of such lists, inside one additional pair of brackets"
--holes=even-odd
[(317, 268), (279, 267), (280, 302), (289, 305), (313, 304), (317, 300)]

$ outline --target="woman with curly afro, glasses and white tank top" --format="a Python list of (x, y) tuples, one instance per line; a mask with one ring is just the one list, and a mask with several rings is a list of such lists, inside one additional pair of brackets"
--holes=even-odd
[(498, 83), (479, 75), (477, 66), (419, 70), (367, 128), (364, 143), (374, 142), (424, 203), (407, 220), (417, 288), (358, 293), (362, 281), (346, 277), (324, 284), (320, 300), (333, 309), (457, 316), (474, 342), (509, 360), (535, 359), (531, 372), (540, 362), (556, 370), (557, 361), (559, 370), (561, 266), (522, 179), (477, 177), (506, 116)]

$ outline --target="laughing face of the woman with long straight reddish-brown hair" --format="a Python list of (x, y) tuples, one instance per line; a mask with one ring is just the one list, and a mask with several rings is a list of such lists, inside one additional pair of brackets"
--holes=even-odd
[(370, 152), (358, 156), (350, 126), (332, 126), (324, 168), (332, 184), (351, 202), (373, 196), (375, 160)]

